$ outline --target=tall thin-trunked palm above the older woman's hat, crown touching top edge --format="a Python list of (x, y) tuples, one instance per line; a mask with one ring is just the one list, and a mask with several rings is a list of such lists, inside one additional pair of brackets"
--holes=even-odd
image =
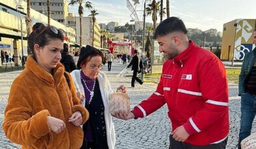
[(92, 3), (90, 3), (90, 1), (86, 1), (86, 0), (71, 0), (71, 2), (69, 4), (69, 5), (79, 4), (78, 14), (79, 14), (79, 22), (80, 22), (80, 36), (79, 36), (80, 48), (82, 47), (82, 16), (84, 14), (84, 7), (82, 6), (83, 3), (84, 3), (85, 8), (88, 8), (89, 10), (92, 9)]

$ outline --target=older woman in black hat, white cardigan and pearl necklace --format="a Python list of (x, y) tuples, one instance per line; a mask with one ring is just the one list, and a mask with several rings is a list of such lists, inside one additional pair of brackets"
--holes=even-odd
[[(85, 95), (83, 105), (90, 113), (89, 120), (83, 125), (84, 143), (82, 148), (114, 149), (116, 136), (114, 124), (109, 111), (109, 93), (113, 93), (109, 80), (101, 71), (103, 53), (87, 45), (81, 49), (77, 67), (81, 70), (72, 71), (78, 92)], [(126, 93), (124, 86), (118, 87)]]

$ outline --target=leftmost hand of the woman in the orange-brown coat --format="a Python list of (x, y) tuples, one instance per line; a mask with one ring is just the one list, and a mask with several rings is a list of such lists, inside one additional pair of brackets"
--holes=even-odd
[(63, 120), (51, 116), (47, 116), (47, 124), (51, 128), (51, 131), (55, 133), (60, 133), (62, 130), (64, 130), (64, 128), (66, 128)]

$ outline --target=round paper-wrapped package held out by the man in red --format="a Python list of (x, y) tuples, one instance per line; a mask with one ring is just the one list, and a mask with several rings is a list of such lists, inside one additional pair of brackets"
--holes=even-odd
[(130, 109), (130, 98), (127, 94), (116, 92), (109, 94), (109, 109), (110, 113), (129, 113)]

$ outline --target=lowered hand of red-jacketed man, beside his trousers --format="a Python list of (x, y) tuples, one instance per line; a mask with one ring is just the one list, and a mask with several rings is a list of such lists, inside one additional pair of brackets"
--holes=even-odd
[(189, 137), (189, 134), (186, 132), (186, 130), (183, 126), (179, 126), (171, 134), (172, 134), (173, 139), (175, 139), (175, 141), (184, 142)]

